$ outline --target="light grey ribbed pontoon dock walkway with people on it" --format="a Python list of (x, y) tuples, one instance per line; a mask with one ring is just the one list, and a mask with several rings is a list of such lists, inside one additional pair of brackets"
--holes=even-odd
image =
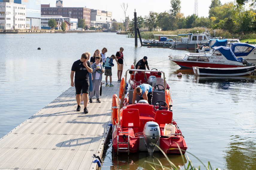
[(88, 103), (77, 112), (75, 88), (70, 87), (58, 98), (21, 123), (0, 139), (0, 170), (96, 170), (96, 156), (102, 157), (111, 123), (112, 95), (119, 84), (102, 84), (101, 103)]

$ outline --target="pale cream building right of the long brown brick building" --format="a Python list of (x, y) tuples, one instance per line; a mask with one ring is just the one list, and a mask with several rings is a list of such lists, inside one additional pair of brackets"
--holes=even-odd
[(91, 27), (112, 28), (112, 12), (91, 9)]

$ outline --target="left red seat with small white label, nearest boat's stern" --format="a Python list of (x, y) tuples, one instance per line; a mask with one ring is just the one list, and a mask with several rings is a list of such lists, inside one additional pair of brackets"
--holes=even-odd
[(140, 115), (138, 109), (122, 110), (122, 127), (140, 127)]

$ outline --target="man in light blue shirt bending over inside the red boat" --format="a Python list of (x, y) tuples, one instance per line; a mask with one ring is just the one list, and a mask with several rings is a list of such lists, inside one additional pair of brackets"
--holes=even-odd
[(140, 96), (141, 100), (147, 100), (151, 104), (153, 88), (149, 84), (141, 84), (137, 86), (133, 91), (132, 104), (135, 103), (136, 95)]

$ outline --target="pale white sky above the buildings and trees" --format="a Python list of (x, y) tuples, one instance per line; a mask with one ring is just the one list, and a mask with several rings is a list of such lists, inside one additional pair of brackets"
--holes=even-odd
[[(220, 0), (222, 4), (235, 0)], [(137, 17), (149, 15), (149, 11), (161, 13), (168, 11), (171, 7), (170, 0), (63, 0), (63, 7), (87, 7), (95, 10), (112, 12), (112, 19), (120, 22), (124, 20), (124, 11), (121, 8), (122, 3), (128, 4), (126, 16), (134, 18), (134, 10), (136, 9)], [(50, 7), (56, 7), (56, 0), (41, 0), (41, 4), (50, 4)], [(208, 17), (209, 6), (211, 0), (198, 0), (198, 16)], [(181, 0), (181, 13), (189, 16), (194, 13), (195, 0)]]

